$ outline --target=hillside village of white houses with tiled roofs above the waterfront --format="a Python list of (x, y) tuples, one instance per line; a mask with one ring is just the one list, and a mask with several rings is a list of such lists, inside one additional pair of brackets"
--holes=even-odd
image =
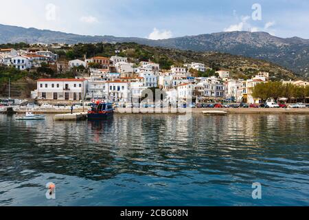
[[(23, 50), (12, 48), (0, 50), (0, 65), (3, 67), (14, 67), (27, 72), (45, 68), (45, 75), (38, 77), (37, 87), (31, 93), (33, 99), (54, 102), (104, 99), (133, 103), (140, 100), (146, 89), (160, 88), (171, 102), (172, 100), (185, 102), (193, 98), (196, 103), (229, 101), (252, 104), (262, 102), (260, 98), (253, 97), (253, 88), (261, 83), (268, 83), (275, 76), (254, 69), (253, 76), (243, 74), (236, 76), (244, 78), (236, 78), (235, 74), (231, 76), (233, 70), (222, 68), (218, 63), (216, 67), (198, 61), (175, 64), (176, 62), (171, 62), (169, 58), (160, 58), (159, 62), (155, 63), (149, 56), (142, 55), (142, 58), (124, 56), (130, 54), (128, 50), (110, 51), (113, 56), (94, 54), (87, 57), (85, 53), (84, 58), (76, 58), (71, 54), (71, 58), (63, 59), (61, 58), (63, 53), (49, 51), (46, 49), (47, 46), (52, 46), (53, 50), (73, 47), (36, 44)], [(65, 54), (66, 58), (70, 52)], [(156, 60), (155, 56), (152, 58)], [(48, 76), (49, 72), (74, 74), (66, 78), (59, 78), (56, 74), (44, 77)], [(282, 80), (282, 83), (309, 85), (308, 82), (294, 80), (293, 77), (290, 80)]]

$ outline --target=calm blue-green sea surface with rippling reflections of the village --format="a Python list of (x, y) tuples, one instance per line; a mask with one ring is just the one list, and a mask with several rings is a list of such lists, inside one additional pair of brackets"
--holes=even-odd
[(0, 115), (0, 206), (309, 206), (309, 116)]

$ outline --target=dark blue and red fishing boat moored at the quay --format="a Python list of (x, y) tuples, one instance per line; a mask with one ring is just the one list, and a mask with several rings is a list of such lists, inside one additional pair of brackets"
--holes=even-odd
[(114, 113), (113, 104), (104, 100), (93, 100), (91, 109), (88, 111), (88, 119), (104, 119)]

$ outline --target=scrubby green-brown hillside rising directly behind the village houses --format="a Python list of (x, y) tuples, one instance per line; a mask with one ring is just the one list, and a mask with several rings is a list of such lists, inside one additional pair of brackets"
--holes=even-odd
[(249, 78), (258, 72), (269, 72), (274, 80), (296, 78), (295, 74), (284, 67), (267, 61), (262, 61), (243, 56), (222, 54), (218, 52), (193, 52), (163, 47), (150, 47), (137, 43), (98, 43), (74, 45), (67, 52), (68, 58), (82, 58), (88, 56), (114, 56), (115, 50), (120, 51), (120, 56), (126, 56), (132, 63), (139, 61), (154, 61), (163, 69), (169, 69), (171, 65), (183, 65), (184, 63), (205, 63), (213, 69), (229, 69), (233, 78)]

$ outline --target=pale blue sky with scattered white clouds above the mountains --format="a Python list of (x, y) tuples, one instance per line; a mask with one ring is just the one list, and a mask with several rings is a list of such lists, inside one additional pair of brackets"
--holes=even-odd
[(309, 39), (308, 0), (0, 0), (0, 5), (1, 24), (92, 36), (168, 39), (244, 30)]

